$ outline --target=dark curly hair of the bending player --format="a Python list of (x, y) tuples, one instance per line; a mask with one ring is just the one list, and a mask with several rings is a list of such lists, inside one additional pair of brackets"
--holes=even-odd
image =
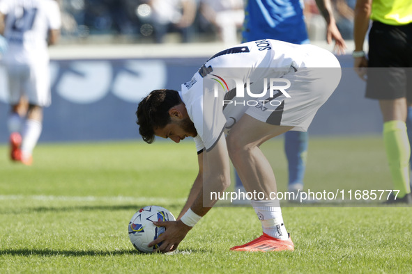
[(153, 90), (137, 106), (136, 124), (139, 124), (139, 134), (146, 143), (155, 140), (156, 128), (166, 127), (171, 118), (169, 109), (181, 104), (182, 99), (176, 90)]

